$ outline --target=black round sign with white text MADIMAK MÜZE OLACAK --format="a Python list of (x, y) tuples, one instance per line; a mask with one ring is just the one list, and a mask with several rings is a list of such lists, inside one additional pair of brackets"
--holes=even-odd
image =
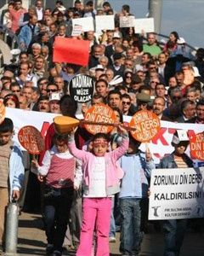
[(69, 91), (76, 102), (89, 102), (94, 94), (94, 79), (86, 74), (78, 74), (71, 79)]

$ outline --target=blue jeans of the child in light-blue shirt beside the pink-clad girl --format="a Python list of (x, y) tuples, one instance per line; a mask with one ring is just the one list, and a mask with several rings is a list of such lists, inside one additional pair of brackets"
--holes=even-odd
[(142, 241), (141, 215), (144, 209), (144, 200), (122, 198), (120, 209), (122, 216), (120, 252), (127, 255), (137, 255)]

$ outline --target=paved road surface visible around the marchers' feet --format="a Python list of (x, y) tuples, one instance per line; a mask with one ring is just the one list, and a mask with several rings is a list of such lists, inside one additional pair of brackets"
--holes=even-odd
[[(45, 255), (46, 239), (42, 230), (42, 218), (37, 214), (22, 213), (19, 224), (18, 255)], [(180, 256), (204, 256), (204, 231), (200, 233), (188, 232), (184, 239), (184, 247)], [(117, 242), (111, 243), (111, 255), (120, 255), (119, 234)], [(144, 235), (142, 252), (139, 256), (162, 256), (163, 236), (156, 233), (153, 226), (149, 225), (149, 234)], [(63, 255), (75, 255), (74, 251), (65, 252)]]

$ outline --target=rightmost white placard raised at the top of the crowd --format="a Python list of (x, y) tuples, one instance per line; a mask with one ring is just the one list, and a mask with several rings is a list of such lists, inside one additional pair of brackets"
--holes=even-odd
[(147, 19), (135, 19), (134, 20), (134, 32), (141, 33), (141, 32), (154, 32), (154, 18), (147, 18)]

